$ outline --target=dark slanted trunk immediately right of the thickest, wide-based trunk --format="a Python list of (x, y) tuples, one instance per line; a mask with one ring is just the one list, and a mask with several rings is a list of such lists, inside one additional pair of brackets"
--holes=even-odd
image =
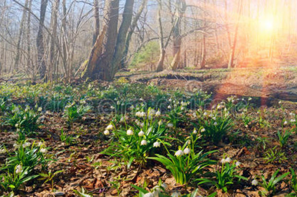
[(123, 12), (123, 20), (119, 29), (119, 33), (117, 35), (115, 50), (111, 61), (112, 78), (114, 77), (115, 72), (120, 68), (120, 63), (125, 49), (125, 42), (126, 42), (128, 28), (131, 25), (133, 5), (134, 5), (134, 0), (126, 0), (124, 12)]

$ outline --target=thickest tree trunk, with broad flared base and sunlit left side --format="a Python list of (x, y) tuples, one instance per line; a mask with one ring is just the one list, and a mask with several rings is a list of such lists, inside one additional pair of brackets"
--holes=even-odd
[[(105, 26), (106, 33), (98, 36), (95, 45), (90, 53), (87, 66), (83, 70), (82, 78), (101, 79), (110, 81), (112, 73), (110, 62), (114, 53), (116, 38), (117, 38), (117, 24), (119, 14), (119, 0), (106, 0), (105, 2)], [(104, 35), (103, 35), (104, 34)], [(102, 38), (103, 37), (103, 38)], [(102, 45), (100, 45), (100, 38), (102, 38)]]

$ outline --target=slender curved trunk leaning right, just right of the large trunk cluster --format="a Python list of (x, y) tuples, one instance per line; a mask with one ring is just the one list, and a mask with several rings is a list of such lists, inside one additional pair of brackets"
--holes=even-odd
[(142, 4), (140, 5), (140, 7), (138, 9), (137, 14), (133, 18), (130, 31), (129, 31), (129, 33), (127, 35), (127, 38), (126, 38), (125, 49), (124, 49), (124, 53), (123, 53), (122, 61), (121, 61), (121, 68), (125, 68), (127, 66), (127, 55), (128, 55), (128, 51), (129, 51), (130, 41), (131, 41), (132, 35), (134, 33), (135, 27), (137, 25), (138, 19), (140, 18), (141, 13), (143, 12), (143, 10), (146, 7), (147, 3), (148, 3), (148, 0), (143, 0), (142, 1)]

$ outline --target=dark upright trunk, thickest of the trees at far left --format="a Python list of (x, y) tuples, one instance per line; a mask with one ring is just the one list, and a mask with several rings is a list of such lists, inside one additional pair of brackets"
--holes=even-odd
[(38, 62), (38, 69), (40, 78), (44, 78), (46, 66), (44, 61), (44, 43), (43, 43), (43, 25), (44, 25), (44, 18), (45, 12), (47, 7), (48, 0), (41, 0), (40, 3), (40, 17), (39, 17), (39, 25), (38, 25), (38, 32), (36, 38), (36, 46), (37, 46), (37, 62)]

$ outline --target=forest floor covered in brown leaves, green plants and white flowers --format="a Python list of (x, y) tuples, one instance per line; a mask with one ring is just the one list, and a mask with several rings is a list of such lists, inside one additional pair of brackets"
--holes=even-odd
[[(297, 67), (122, 72), (112, 83), (2, 82), (0, 150), (6, 151), (0, 151), (0, 195), (143, 197), (162, 182), (166, 187), (158, 191), (165, 197), (194, 191), (203, 197), (258, 197), (261, 191), (263, 196), (294, 197), (297, 185), (290, 168), (297, 171), (296, 102)], [(154, 112), (150, 119), (151, 108), (161, 114)], [(157, 141), (160, 147), (153, 144)], [(185, 147), (193, 152), (174, 156)], [(180, 159), (175, 167), (185, 161), (179, 172), (203, 161), (193, 154), (216, 152), (206, 157), (214, 162), (199, 172), (187, 170), (190, 178), (181, 181), (170, 167), (148, 158), (167, 157), (167, 149)], [(26, 154), (20, 156), (22, 151)], [(222, 164), (227, 157), (232, 161)], [(38, 177), (20, 179), (17, 185), (18, 165), (25, 177)], [(232, 173), (227, 165), (234, 167)], [(222, 185), (216, 173), (224, 170)], [(286, 176), (266, 187), (264, 180), (277, 171), (277, 177)], [(199, 184), (201, 178), (212, 182)]]

